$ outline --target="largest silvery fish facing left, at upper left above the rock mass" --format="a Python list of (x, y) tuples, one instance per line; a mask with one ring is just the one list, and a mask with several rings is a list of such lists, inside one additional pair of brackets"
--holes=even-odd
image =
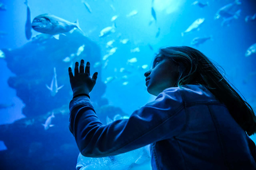
[(37, 32), (47, 33), (50, 35), (69, 32), (74, 28), (79, 29), (83, 33), (82, 29), (79, 27), (78, 20), (75, 23), (72, 23), (52, 14), (36, 16), (32, 22), (32, 28)]

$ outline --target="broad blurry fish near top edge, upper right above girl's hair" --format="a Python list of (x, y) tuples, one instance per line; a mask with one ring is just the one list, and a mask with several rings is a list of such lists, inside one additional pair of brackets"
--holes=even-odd
[(239, 0), (235, 0), (235, 2), (221, 7), (215, 14), (214, 19), (217, 20), (220, 17), (230, 18), (231, 16), (238, 18), (241, 10), (237, 9), (237, 5), (241, 5), (241, 2)]

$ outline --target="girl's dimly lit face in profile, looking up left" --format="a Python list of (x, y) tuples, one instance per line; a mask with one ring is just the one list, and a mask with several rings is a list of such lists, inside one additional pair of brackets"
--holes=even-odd
[(162, 55), (157, 55), (152, 69), (145, 74), (149, 94), (158, 96), (164, 89), (173, 87), (178, 79), (179, 66)]

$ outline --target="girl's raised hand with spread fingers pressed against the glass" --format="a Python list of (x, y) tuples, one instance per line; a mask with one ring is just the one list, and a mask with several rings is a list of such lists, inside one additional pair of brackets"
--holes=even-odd
[(79, 94), (89, 95), (98, 77), (98, 72), (95, 72), (91, 78), (89, 62), (86, 63), (85, 70), (84, 70), (84, 60), (81, 60), (79, 70), (78, 70), (78, 65), (79, 63), (76, 62), (74, 75), (72, 73), (71, 67), (68, 67), (68, 74), (69, 74), (71, 89), (73, 91), (73, 97)]

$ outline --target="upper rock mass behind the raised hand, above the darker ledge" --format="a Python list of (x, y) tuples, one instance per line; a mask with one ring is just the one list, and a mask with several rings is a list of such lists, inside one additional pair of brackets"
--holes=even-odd
[[(101, 81), (101, 67), (93, 67), (100, 62), (100, 48), (79, 31), (60, 35), (59, 40), (49, 35), (38, 35), (17, 49), (1, 49), (5, 54), (7, 67), (15, 74), (8, 80), (9, 86), (17, 91), (17, 96), (26, 105), (22, 114), (27, 117), (43, 115), (53, 108), (69, 104), (73, 97), (69, 84), (68, 67), (73, 67), (81, 59), (91, 63), (91, 73), (98, 72), (97, 83), (90, 93), (91, 100), (101, 99), (106, 84)], [(52, 96), (50, 87), (54, 67), (57, 73), (58, 90)], [(53, 84), (54, 85), (54, 84)]]

